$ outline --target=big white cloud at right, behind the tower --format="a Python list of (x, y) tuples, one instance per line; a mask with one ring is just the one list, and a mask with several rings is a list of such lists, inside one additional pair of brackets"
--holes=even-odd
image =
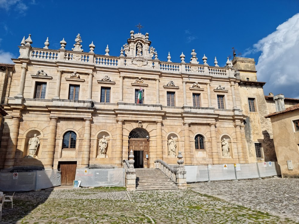
[[(299, 13), (280, 24), (276, 31), (253, 45), (261, 51), (256, 66), (259, 81), (265, 81), (264, 93), (299, 95)], [(249, 50), (248, 50), (249, 51)], [(243, 54), (244, 56), (244, 54)]]

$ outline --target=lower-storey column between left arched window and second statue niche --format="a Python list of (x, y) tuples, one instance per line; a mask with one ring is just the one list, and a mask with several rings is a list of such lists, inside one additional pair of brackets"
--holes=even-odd
[(85, 120), (85, 129), (84, 129), (84, 139), (82, 146), (82, 161), (81, 167), (89, 166), (89, 156), (90, 156), (90, 135), (91, 135), (91, 118)]

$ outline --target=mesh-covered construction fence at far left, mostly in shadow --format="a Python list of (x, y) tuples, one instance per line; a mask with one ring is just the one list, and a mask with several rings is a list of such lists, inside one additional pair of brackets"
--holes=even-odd
[(33, 191), (59, 186), (60, 170), (0, 173), (0, 191)]

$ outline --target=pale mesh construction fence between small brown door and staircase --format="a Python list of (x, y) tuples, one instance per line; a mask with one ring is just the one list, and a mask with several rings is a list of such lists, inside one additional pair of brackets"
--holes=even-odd
[(123, 168), (77, 169), (75, 180), (81, 180), (82, 187), (123, 187)]

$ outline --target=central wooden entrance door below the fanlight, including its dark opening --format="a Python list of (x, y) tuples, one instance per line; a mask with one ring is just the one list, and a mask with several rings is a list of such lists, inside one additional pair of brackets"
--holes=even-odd
[(131, 138), (129, 140), (130, 151), (134, 154), (134, 168), (149, 168), (149, 140), (146, 138)]

